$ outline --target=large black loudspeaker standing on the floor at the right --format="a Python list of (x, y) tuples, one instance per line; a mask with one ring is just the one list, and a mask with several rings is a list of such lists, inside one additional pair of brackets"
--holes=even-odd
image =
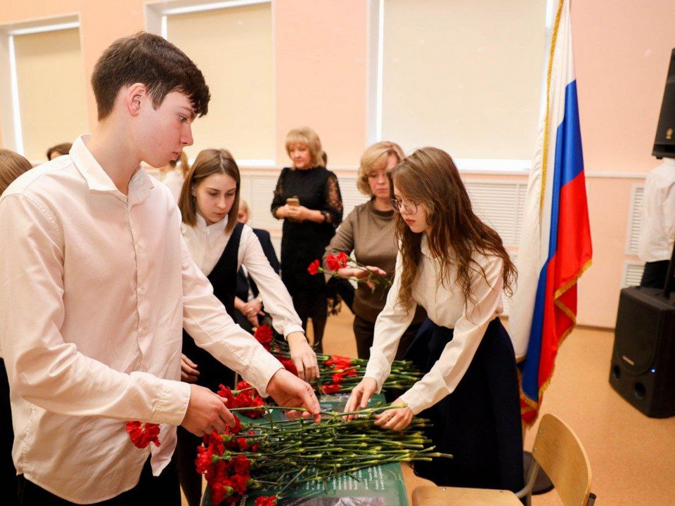
[(675, 415), (675, 294), (621, 291), (610, 384), (648, 417)]

